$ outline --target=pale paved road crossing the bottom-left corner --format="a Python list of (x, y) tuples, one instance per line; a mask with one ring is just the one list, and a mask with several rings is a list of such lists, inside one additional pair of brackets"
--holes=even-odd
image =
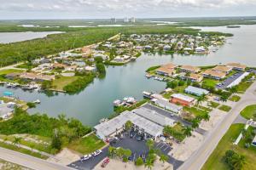
[(23, 167), (29, 167), (35, 170), (72, 170), (71, 167), (65, 167), (59, 164), (51, 163), (33, 156), (28, 156), (13, 150), (7, 150), (0, 147), (0, 158), (19, 164)]

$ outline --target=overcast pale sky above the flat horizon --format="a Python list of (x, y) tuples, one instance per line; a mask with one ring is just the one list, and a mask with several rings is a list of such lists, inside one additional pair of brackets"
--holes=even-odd
[(256, 15), (256, 0), (0, 0), (0, 19)]

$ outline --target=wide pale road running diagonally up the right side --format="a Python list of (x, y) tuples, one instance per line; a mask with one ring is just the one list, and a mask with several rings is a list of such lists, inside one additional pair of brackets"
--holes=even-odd
[(224, 117), (222, 122), (219, 122), (212, 132), (207, 133), (207, 137), (201, 148), (189, 157), (187, 161), (179, 168), (179, 170), (199, 170), (207, 161), (207, 158), (211, 155), (212, 151), (218, 145), (219, 140), (227, 132), (232, 122), (235, 121), (239, 113), (247, 106), (256, 103), (256, 82), (247, 89), (246, 93), (242, 95), (241, 100), (236, 103), (233, 109), (227, 116)]

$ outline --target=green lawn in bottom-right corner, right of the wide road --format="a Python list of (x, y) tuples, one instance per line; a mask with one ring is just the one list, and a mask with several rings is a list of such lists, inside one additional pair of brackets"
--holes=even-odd
[[(227, 164), (223, 160), (223, 156), (225, 151), (227, 150), (235, 150), (240, 155), (245, 156), (246, 164), (243, 169), (256, 169), (256, 150), (253, 148), (254, 146), (250, 146), (248, 149), (244, 147), (244, 139), (241, 139), (238, 145), (234, 145), (233, 142), (238, 137), (239, 133), (241, 133), (244, 124), (233, 124), (230, 129), (225, 133), (224, 137), (219, 141), (218, 146), (212, 152), (211, 156), (209, 156), (205, 165), (201, 168), (201, 170), (226, 170), (229, 169)], [(252, 127), (250, 127), (252, 128)], [(248, 130), (250, 130), (248, 128)]]

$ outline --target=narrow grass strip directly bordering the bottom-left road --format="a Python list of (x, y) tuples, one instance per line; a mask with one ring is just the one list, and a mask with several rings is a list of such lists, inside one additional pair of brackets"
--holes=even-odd
[(26, 150), (26, 149), (20, 148), (18, 146), (15, 146), (14, 144), (5, 144), (3, 142), (0, 142), (0, 147), (6, 148), (6, 149), (9, 149), (9, 150), (15, 150), (15, 151), (18, 151), (20, 153), (30, 155), (30, 156), (34, 156), (34, 157), (38, 157), (38, 158), (41, 158), (41, 159), (44, 159), (44, 160), (46, 160), (48, 158), (48, 156), (42, 156), (41, 154), (39, 154), (37, 152), (33, 152), (31, 150)]

